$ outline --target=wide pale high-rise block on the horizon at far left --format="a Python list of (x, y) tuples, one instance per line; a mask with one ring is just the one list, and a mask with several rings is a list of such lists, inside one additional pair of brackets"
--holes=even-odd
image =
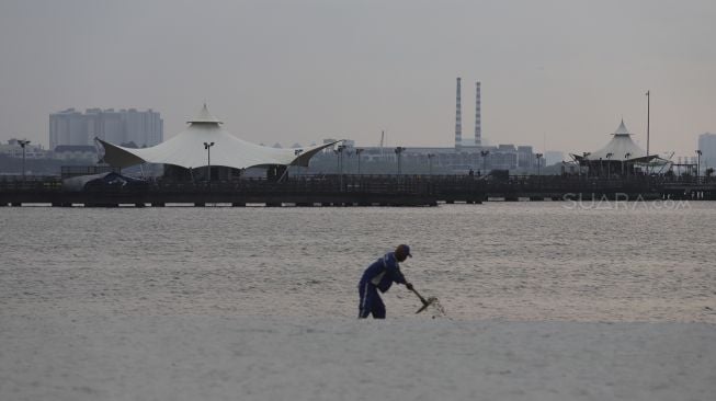
[(163, 121), (151, 108), (88, 108), (84, 114), (68, 108), (49, 115), (49, 148), (60, 145), (93, 145), (94, 138), (116, 145), (150, 147), (163, 140)]

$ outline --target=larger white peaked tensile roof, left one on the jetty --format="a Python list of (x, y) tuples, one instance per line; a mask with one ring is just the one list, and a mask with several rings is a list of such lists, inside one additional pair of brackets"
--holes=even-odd
[(251, 144), (223, 129), (221, 122), (208, 112), (206, 104), (198, 115), (187, 123), (186, 130), (150, 148), (125, 148), (95, 139), (104, 147), (104, 162), (120, 168), (144, 162), (173, 164), (185, 169), (204, 167), (208, 162), (204, 142), (214, 142), (211, 147), (212, 165), (234, 169), (274, 164), (306, 167), (314, 154), (336, 144), (299, 149), (276, 149)]

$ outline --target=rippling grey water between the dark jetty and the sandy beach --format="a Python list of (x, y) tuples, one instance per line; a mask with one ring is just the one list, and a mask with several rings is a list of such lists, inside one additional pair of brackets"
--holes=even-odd
[(365, 266), (406, 242), (454, 319), (716, 322), (716, 204), (629, 205), (2, 208), (0, 313), (353, 317)]

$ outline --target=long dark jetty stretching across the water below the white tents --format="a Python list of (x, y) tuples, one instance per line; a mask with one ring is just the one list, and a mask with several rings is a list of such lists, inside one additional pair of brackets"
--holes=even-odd
[(206, 182), (148, 181), (88, 184), (70, 191), (58, 177), (0, 180), (0, 206), (117, 207), (226, 204), (231, 206), (436, 206), (491, 200), (716, 200), (712, 177), (592, 177), (529, 175), (310, 175), (282, 182), (241, 179)]

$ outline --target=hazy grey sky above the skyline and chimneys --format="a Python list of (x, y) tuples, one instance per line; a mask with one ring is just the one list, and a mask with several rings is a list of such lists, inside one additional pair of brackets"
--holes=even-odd
[(453, 146), (475, 81), (491, 144), (595, 150), (624, 117), (651, 150), (716, 131), (716, 1), (0, 1), (0, 139), (48, 142), (67, 107), (204, 101), (250, 141)]

